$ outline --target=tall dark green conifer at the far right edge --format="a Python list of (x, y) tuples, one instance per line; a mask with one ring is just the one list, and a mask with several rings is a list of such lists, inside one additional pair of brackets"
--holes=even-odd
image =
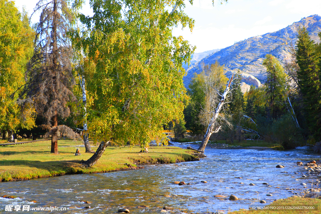
[[(321, 38), (321, 34), (319, 34)], [(296, 62), (299, 65), (298, 84), (303, 95), (308, 125), (314, 135), (321, 139), (321, 58), (318, 45), (309, 37), (306, 28), (300, 28), (296, 42)]]

